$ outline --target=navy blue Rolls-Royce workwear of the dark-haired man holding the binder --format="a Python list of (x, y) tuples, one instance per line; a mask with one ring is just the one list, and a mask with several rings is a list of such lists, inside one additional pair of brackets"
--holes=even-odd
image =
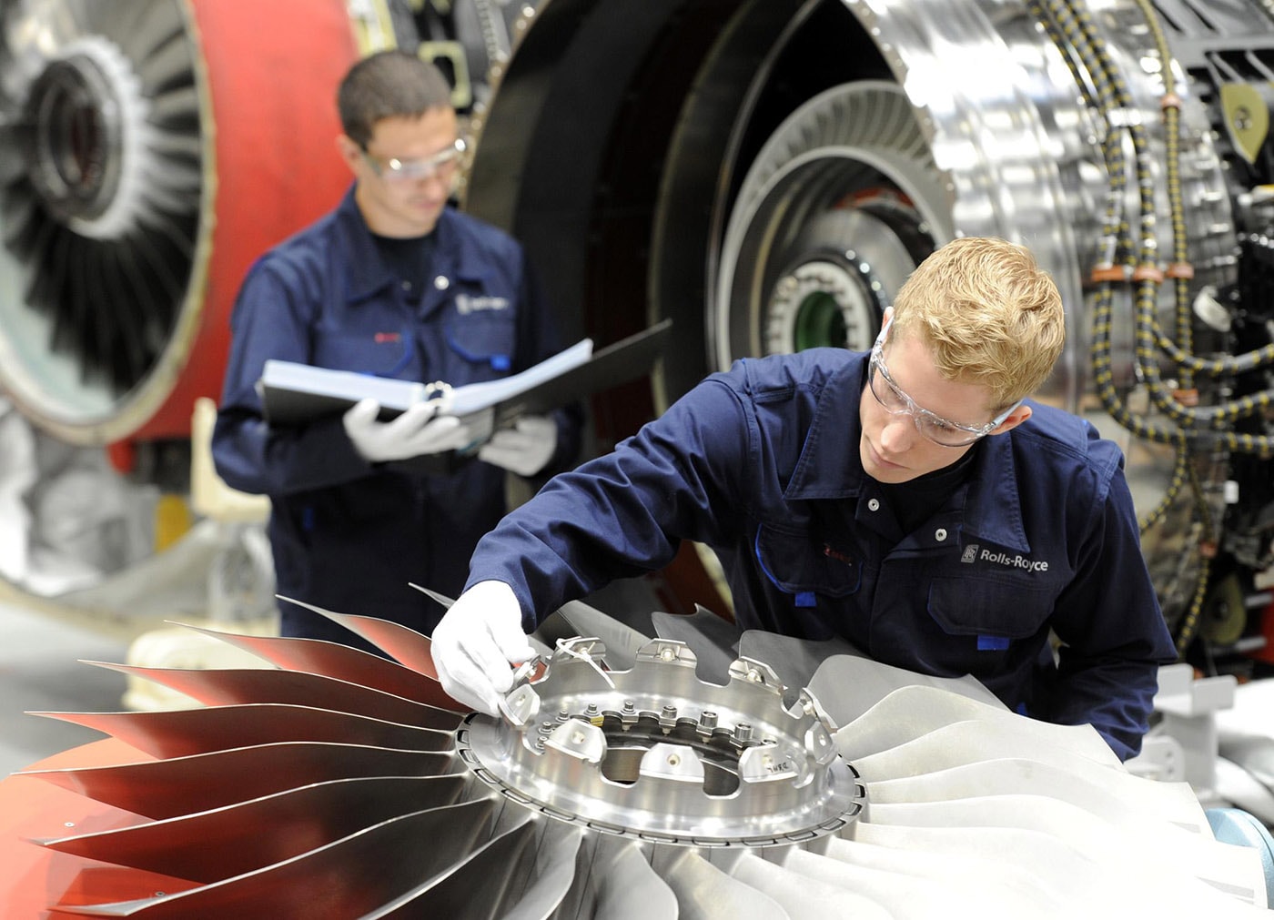
[[(222, 478), (270, 497), (280, 594), (426, 633), (443, 610), (409, 582), (459, 595), (478, 538), (506, 510), (505, 470), (475, 460), (450, 475), (422, 475), (368, 464), (339, 415), (269, 427), (256, 381), (268, 358), (280, 358), (461, 385), (521, 371), (561, 348), (516, 241), (451, 208), (436, 234), (419, 299), (386, 269), (353, 190), (257, 260), (236, 302), (213, 436)], [(575, 459), (580, 410), (555, 420), (550, 471)], [(285, 635), (352, 638), (292, 604), (280, 610)]]

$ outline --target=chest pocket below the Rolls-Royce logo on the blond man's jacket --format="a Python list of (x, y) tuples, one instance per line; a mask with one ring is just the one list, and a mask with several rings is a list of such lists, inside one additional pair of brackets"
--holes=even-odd
[(929, 586), (929, 615), (950, 636), (996, 640), (1033, 636), (1052, 614), (1054, 593), (1023, 581), (952, 577)]

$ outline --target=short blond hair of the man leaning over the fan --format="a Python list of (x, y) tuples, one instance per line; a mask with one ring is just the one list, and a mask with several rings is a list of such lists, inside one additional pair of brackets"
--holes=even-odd
[(976, 384), (1005, 409), (1034, 392), (1066, 344), (1061, 294), (1023, 246), (961, 237), (898, 289), (893, 333), (919, 335), (947, 380)]

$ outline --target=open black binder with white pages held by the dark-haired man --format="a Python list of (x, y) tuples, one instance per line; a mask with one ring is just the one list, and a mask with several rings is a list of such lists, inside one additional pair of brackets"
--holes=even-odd
[(492, 413), (487, 431), (507, 427), (519, 415), (540, 415), (558, 406), (647, 373), (664, 348), (671, 320), (662, 320), (622, 341), (592, 352), (582, 339), (534, 367), (501, 380), (448, 386), (334, 371), (290, 361), (266, 361), (257, 382), (266, 420), (304, 424), (344, 413), (363, 399), (381, 404), (381, 420), (420, 400), (438, 400), (442, 413), (470, 420)]

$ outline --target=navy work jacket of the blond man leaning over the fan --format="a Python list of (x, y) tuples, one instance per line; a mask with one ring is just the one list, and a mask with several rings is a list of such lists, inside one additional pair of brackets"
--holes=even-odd
[(1135, 753), (1175, 650), (1119, 447), (1032, 403), (903, 533), (859, 456), (866, 358), (812, 349), (708, 377), (506, 517), (479, 543), (469, 584), (506, 581), (544, 615), (699, 540), (745, 629), (837, 635), (891, 665), (972, 674), (1019, 712), (1091, 722), (1121, 757)]

